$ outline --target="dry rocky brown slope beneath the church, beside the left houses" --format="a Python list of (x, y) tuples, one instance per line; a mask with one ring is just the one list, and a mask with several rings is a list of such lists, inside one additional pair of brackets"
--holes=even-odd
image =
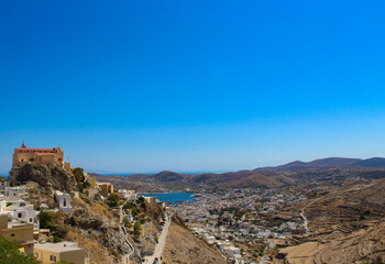
[[(143, 254), (152, 254), (155, 238), (160, 234), (160, 222), (164, 209), (156, 202), (130, 204), (119, 200), (121, 207), (108, 205), (100, 195), (88, 196), (79, 188), (73, 174), (56, 165), (25, 165), (18, 175), (28, 190), (28, 200), (40, 210), (46, 221), (41, 221), (42, 229), (50, 229), (56, 241), (75, 241), (85, 249), (90, 263), (121, 263), (121, 257), (130, 253), (124, 239), (135, 248), (130, 263), (142, 263)], [(57, 210), (54, 200), (55, 190), (72, 191), (73, 213)], [(125, 204), (124, 204), (125, 202)], [(128, 234), (122, 230), (123, 212), (134, 210), (142, 232), (134, 232), (133, 223), (127, 222)], [(43, 238), (48, 239), (48, 238)]]

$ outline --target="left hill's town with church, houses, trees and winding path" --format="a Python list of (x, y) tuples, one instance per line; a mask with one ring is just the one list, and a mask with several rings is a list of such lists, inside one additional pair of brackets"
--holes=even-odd
[[(134, 253), (134, 248), (128, 240), (128, 234), (133, 232), (135, 228), (138, 229), (142, 220), (136, 216), (138, 210), (135, 206), (123, 207), (123, 204), (146, 202), (147, 207), (164, 207), (164, 205), (154, 197), (144, 197), (144, 200), (141, 200), (134, 190), (117, 190), (112, 184), (99, 183), (96, 177), (91, 177), (89, 173), (84, 173), (82, 169), (72, 169), (70, 164), (65, 163), (63, 157), (64, 152), (61, 147), (28, 148), (23, 142), (21, 147), (14, 150), (10, 177), (8, 180), (4, 178), (0, 180), (0, 237), (18, 245), (21, 252), (33, 254), (36, 261), (43, 264), (58, 262), (73, 264), (92, 263), (90, 253), (86, 254), (85, 249), (80, 248), (77, 242), (63, 241), (55, 234), (57, 231), (52, 232), (52, 230), (42, 228), (42, 226), (46, 226), (46, 217), (50, 213), (61, 212), (70, 219), (74, 213), (73, 201), (77, 201), (80, 198), (87, 201), (86, 197), (89, 199), (97, 198), (108, 204), (112, 210), (120, 211), (121, 229), (124, 232), (122, 243), (127, 244), (129, 252), (123, 254), (118, 262), (130, 263), (130, 255)], [(18, 182), (20, 169), (25, 165), (54, 165), (61, 167), (70, 174), (80, 176), (84, 189), (81, 193), (80, 190), (66, 193), (63, 189), (54, 189), (55, 208), (50, 208), (50, 205), (46, 204), (41, 204), (36, 208), (31, 202), (32, 197), (30, 196), (31, 189), (29, 184), (22, 185)], [(32, 190), (34, 191), (35, 188), (32, 188)]]

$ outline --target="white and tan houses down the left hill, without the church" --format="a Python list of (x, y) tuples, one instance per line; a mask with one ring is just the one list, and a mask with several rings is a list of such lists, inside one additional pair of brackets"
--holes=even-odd
[[(119, 189), (114, 191), (113, 185), (109, 183), (98, 183), (96, 177), (85, 174), (89, 188), (84, 190), (89, 197), (100, 195), (106, 199), (109, 195), (116, 193), (121, 198), (134, 202), (138, 194), (134, 190)], [(72, 199), (79, 198), (79, 193), (55, 190), (56, 209), (48, 209), (46, 205), (41, 205), (41, 209), (57, 212), (62, 210), (65, 213), (73, 213), (70, 205)], [(151, 197), (147, 202), (157, 202)], [(0, 235), (20, 246), (20, 251), (25, 254), (34, 254), (41, 263), (55, 263), (65, 261), (74, 264), (89, 263), (85, 255), (85, 250), (78, 246), (78, 243), (64, 241), (59, 243), (50, 243), (41, 239), (41, 234), (48, 234), (50, 230), (40, 229), (38, 210), (29, 201), (29, 195), (25, 187), (11, 187), (7, 180), (0, 180)], [(131, 213), (127, 215), (130, 222), (133, 221)]]

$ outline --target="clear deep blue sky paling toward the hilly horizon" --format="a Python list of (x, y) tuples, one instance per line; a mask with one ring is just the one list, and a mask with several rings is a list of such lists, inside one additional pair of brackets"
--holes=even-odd
[(0, 2), (0, 172), (385, 156), (384, 1)]

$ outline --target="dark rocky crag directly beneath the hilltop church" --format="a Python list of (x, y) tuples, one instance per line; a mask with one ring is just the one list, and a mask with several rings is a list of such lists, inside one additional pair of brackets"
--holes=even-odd
[(50, 190), (62, 190), (70, 193), (78, 190), (74, 175), (56, 165), (32, 165), (26, 164), (18, 172), (15, 179), (21, 183), (35, 182)]

